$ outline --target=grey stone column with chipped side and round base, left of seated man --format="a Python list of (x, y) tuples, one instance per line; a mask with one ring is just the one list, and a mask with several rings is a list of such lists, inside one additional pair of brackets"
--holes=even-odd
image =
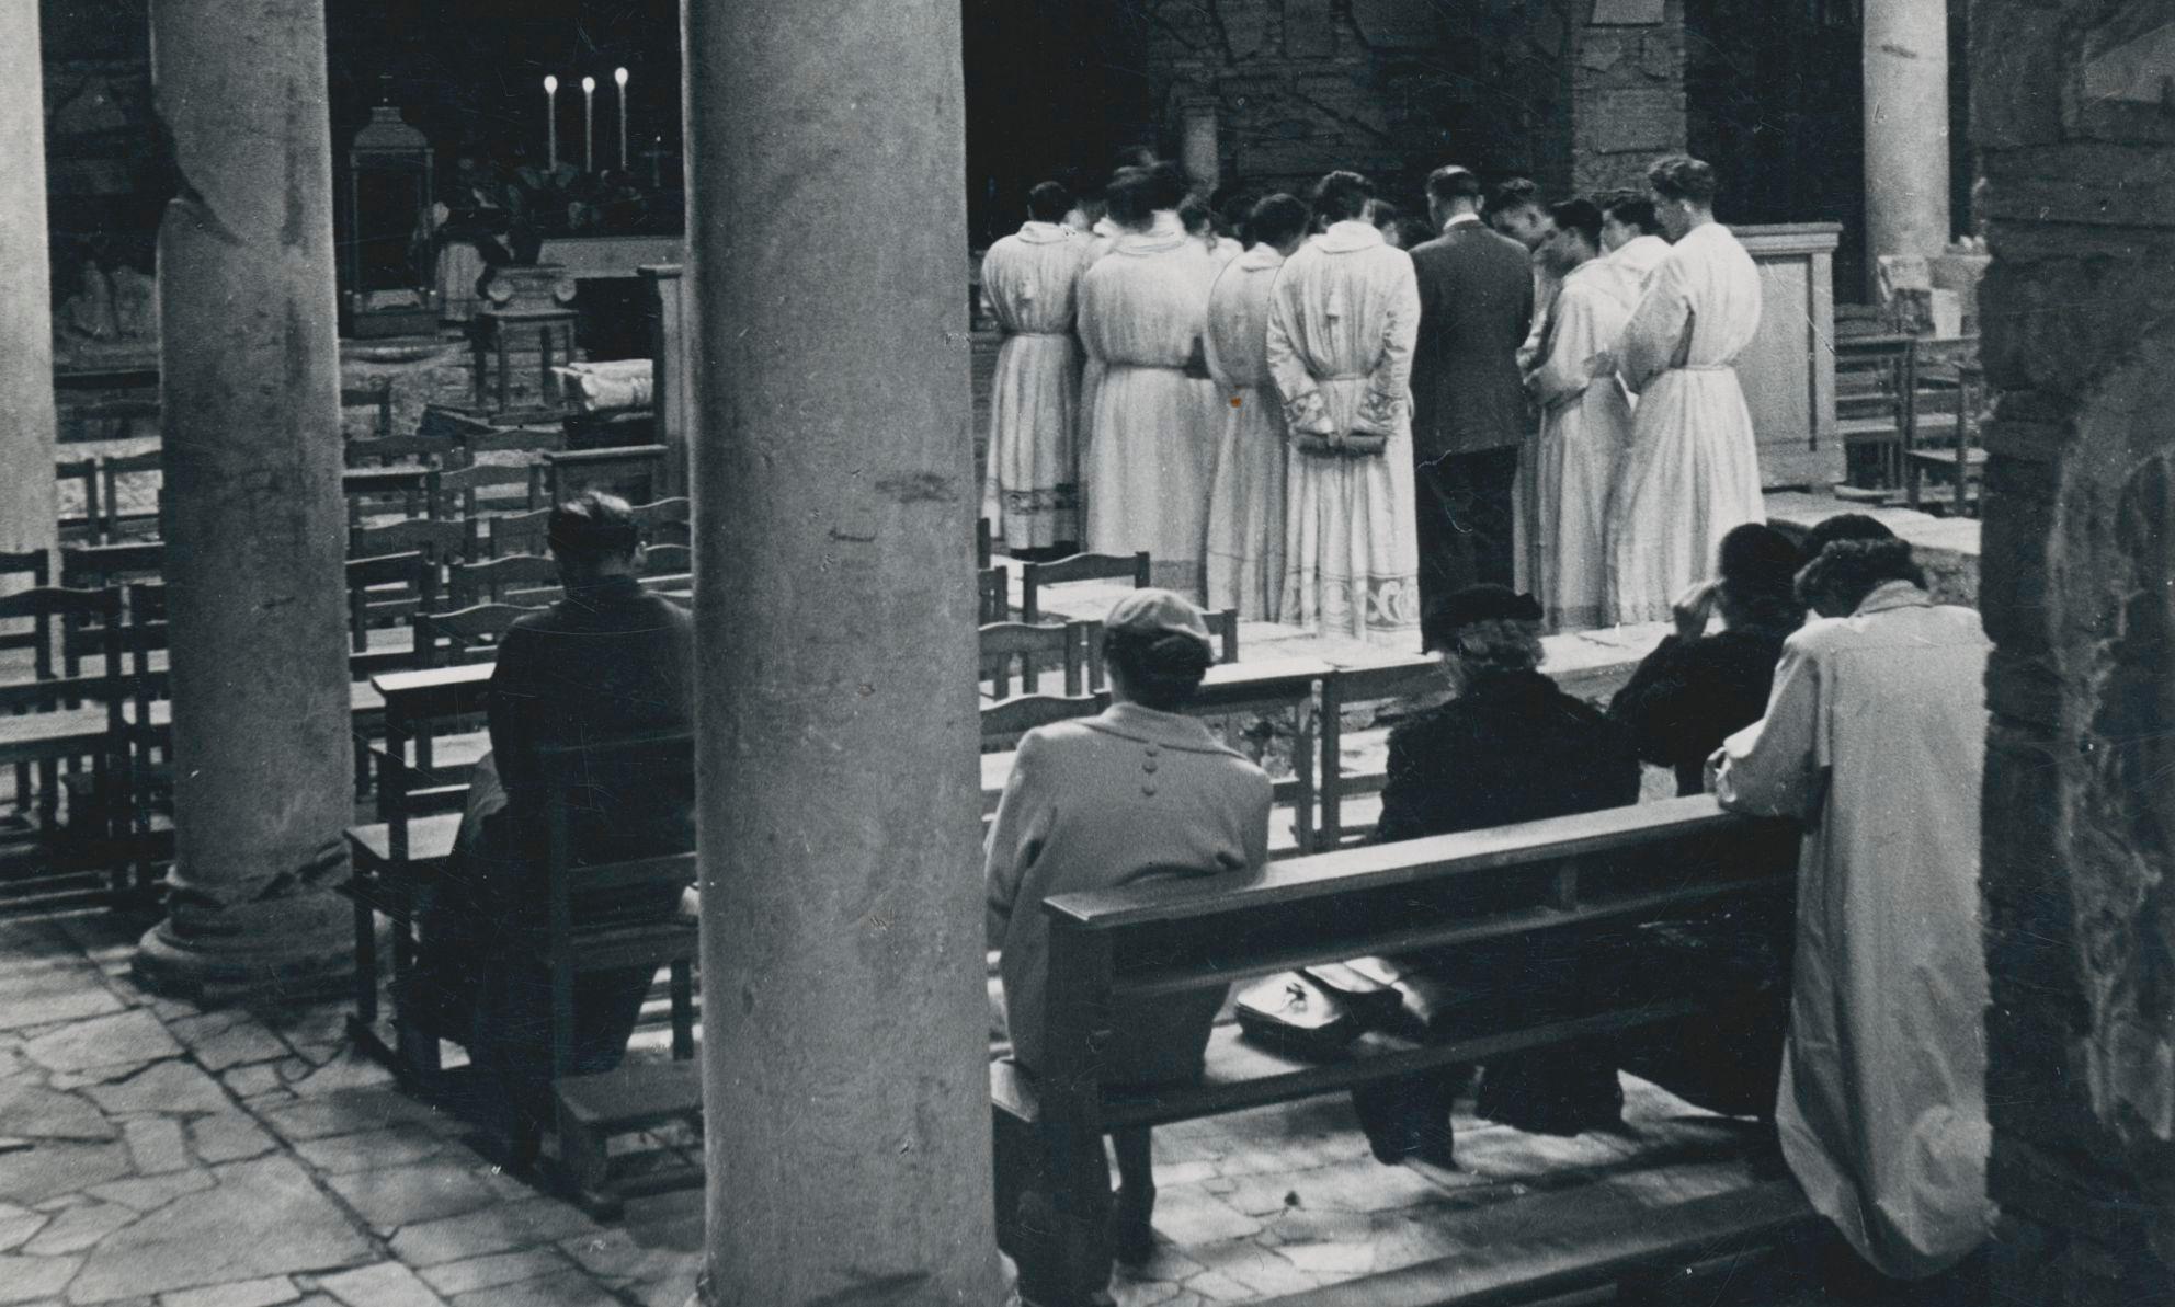
[(137, 972), (265, 992), (348, 963), (346, 509), (324, 0), (159, 0), (172, 916)]

